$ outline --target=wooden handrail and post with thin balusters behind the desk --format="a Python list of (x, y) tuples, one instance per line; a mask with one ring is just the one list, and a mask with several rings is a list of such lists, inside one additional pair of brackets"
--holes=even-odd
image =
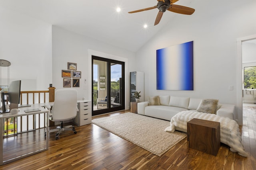
[[(54, 98), (55, 98), (55, 88), (54, 87), (49, 87), (48, 88), (49, 90), (44, 90), (44, 91), (21, 91), (20, 92), (20, 104), (22, 105), (22, 104), (35, 104), (35, 102), (36, 103), (41, 103), (41, 95), (43, 95), (44, 97), (43, 97), (43, 102), (42, 103), (46, 103), (46, 102), (54, 102)], [(48, 94), (48, 96), (49, 96), (49, 98), (47, 99), (47, 95), (46, 94)], [(32, 99), (30, 98), (32, 96)], [(25, 102), (23, 102), (23, 98), (26, 98), (26, 101)], [(43, 126), (40, 126), (42, 123), (40, 123), (41, 122), (41, 115), (44, 115), (43, 117), (43, 121), (44, 121), (44, 124), (43, 124)], [(34, 116), (36, 116), (36, 115), (33, 115), (33, 119), (32, 120), (34, 120)], [(26, 119), (26, 130), (23, 130), (22, 129), (22, 127), (23, 127), (23, 124), (22, 124), (22, 122), (23, 122), (23, 119)], [(37, 125), (38, 125), (38, 128), (44, 128), (44, 127), (46, 127), (46, 119), (48, 119), (48, 117), (46, 117), (46, 113), (41, 113), (41, 114), (39, 114), (39, 116), (38, 116), (38, 123), (37, 123)], [(9, 119), (6, 119), (6, 129), (4, 130), (4, 132), (6, 132), (6, 135), (5, 136), (8, 136), (8, 132), (9, 132), (9, 122), (10, 120)], [(12, 132), (13, 133), (11, 133), (10, 135), (13, 135), (13, 134), (16, 134), (17, 132), (16, 132), (16, 121), (18, 121), (18, 120), (16, 120), (16, 117), (13, 117), (13, 123), (14, 123), (14, 129), (12, 130)], [(30, 129), (29, 129), (29, 124), (30, 124), (31, 122), (29, 121), (29, 115), (27, 115), (27, 116), (21, 116), (20, 117), (20, 120), (19, 120), (19, 129), (20, 129), (20, 132), (19, 133), (22, 133), (22, 132), (25, 132), (25, 131), (29, 131)], [(17, 123), (18, 124), (18, 123)], [(32, 127), (34, 127), (34, 121), (32, 121)], [(54, 122), (52, 122), (52, 121), (49, 121), (49, 126), (52, 126), (52, 125), (54, 125)], [(18, 125), (17, 125), (18, 126)], [(17, 127), (17, 129), (18, 129), (18, 127)], [(4, 133), (5, 134), (5, 133)]]

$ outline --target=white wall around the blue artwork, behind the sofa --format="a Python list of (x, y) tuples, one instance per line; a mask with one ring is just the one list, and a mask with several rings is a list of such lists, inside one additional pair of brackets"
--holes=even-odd
[[(230, 10), (207, 12), (207, 8), (202, 8), (196, 9), (192, 16), (177, 15), (136, 53), (137, 71), (145, 72), (145, 98), (189, 96), (237, 104), (237, 92), (242, 93), (242, 89), (236, 87), (236, 39), (256, 33), (253, 17), (256, 16), (256, 2), (248, 0), (241, 4), (235, 1)], [(203, 2), (193, 1), (191, 6), (194, 3)], [(188, 41), (194, 41), (194, 90), (156, 90), (156, 50)], [(229, 86), (234, 90), (228, 90)], [(242, 119), (238, 123), (242, 124)]]

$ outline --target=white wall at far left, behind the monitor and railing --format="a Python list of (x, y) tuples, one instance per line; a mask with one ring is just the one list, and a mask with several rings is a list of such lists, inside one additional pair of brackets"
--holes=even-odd
[[(47, 90), (52, 82), (52, 27), (49, 23), (0, 7), (0, 59), (10, 61), (10, 82), (21, 90)], [(7, 68), (2, 67), (2, 85)]]

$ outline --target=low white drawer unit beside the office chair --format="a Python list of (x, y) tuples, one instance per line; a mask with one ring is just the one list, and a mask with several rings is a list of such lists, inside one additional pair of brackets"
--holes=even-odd
[(92, 102), (88, 100), (78, 100), (78, 112), (74, 118), (74, 123), (78, 126), (92, 123)]

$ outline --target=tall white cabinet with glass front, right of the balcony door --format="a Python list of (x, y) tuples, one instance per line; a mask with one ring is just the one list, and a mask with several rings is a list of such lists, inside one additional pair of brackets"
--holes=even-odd
[(144, 102), (144, 72), (130, 72), (130, 102), (135, 102), (136, 91), (140, 92), (140, 102)]

